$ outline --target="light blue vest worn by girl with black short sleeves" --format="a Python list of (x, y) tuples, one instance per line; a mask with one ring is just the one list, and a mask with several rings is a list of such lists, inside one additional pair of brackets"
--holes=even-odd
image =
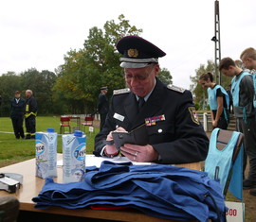
[[(217, 102), (217, 96), (216, 96), (218, 89), (220, 89), (221, 92), (225, 94), (226, 104), (227, 106), (229, 105), (229, 94), (221, 85), (216, 85), (213, 89), (210, 89), (209, 87), (207, 90), (207, 93), (208, 93), (208, 99), (209, 99), (209, 105), (210, 105), (211, 111), (216, 111), (218, 109), (218, 102)], [(227, 108), (225, 108), (224, 106), (223, 106), (223, 112), (225, 115), (225, 119), (229, 121), (228, 111), (227, 111)]]

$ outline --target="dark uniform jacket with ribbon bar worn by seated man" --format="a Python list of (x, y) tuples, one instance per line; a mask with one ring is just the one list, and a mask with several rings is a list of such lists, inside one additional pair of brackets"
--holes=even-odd
[(114, 94), (104, 128), (95, 138), (95, 154), (101, 153), (108, 133), (117, 127), (130, 131), (144, 124), (146, 118), (164, 115), (165, 120), (147, 127), (149, 144), (160, 155), (159, 163), (203, 161), (209, 139), (193, 111), (191, 92), (171, 90), (157, 78), (154, 91), (139, 113), (135, 94)]

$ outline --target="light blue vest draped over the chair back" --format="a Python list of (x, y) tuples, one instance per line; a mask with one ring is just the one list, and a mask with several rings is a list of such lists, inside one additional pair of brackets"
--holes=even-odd
[(230, 170), (235, 169), (235, 174), (229, 184), (229, 191), (239, 199), (242, 199), (242, 178), (243, 178), (243, 148), (235, 162), (232, 162), (233, 150), (240, 136), (240, 132), (233, 131), (229, 144), (222, 150), (217, 148), (217, 137), (220, 128), (212, 130), (210, 135), (210, 148), (205, 162), (205, 171), (208, 173), (210, 179), (220, 181), (222, 191), (224, 191)]

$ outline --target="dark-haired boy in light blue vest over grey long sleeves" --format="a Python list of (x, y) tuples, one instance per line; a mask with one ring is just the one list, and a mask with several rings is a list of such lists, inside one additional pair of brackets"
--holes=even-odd
[[(243, 181), (244, 189), (256, 187), (256, 119), (253, 107), (254, 86), (252, 76), (236, 66), (234, 60), (224, 58), (220, 61), (219, 70), (231, 81), (236, 130), (245, 135), (245, 151), (249, 159), (249, 173)], [(246, 156), (245, 156), (246, 157)], [(247, 158), (244, 158), (244, 172)]]

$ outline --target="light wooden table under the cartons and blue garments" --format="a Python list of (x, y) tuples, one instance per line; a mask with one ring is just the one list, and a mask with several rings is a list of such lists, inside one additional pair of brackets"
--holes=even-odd
[[(58, 159), (62, 159), (62, 154), (58, 154)], [(197, 166), (196, 166), (197, 165)], [(191, 163), (192, 168), (197, 168), (198, 163)], [(24, 217), (29, 216), (29, 220), (33, 221), (29, 213), (49, 213), (49, 218), (47, 222), (54, 221), (55, 219), (50, 219), (50, 215), (68, 215), (68, 216), (79, 216), (81, 218), (95, 218), (95, 219), (104, 219), (112, 221), (172, 221), (161, 219), (153, 216), (149, 216), (143, 213), (140, 213), (135, 210), (120, 210), (120, 211), (95, 211), (88, 209), (64, 209), (62, 207), (50, 207), (46, 210), (35, 209), (35, 203), (31, 200), (32, 197), (38, 196), (39, 192), (42, 190), (42, 187), (45, 184), (45, 179), (40, 179), (35, 177), (35, 159), (28, 160), (26, 162), (15, 163), (6, 167), (0, 168), (0, 173), (17, 173), (23, 175), (23, 185), (17, 192), (17, 194), (9, 194), (6, 191), (0, 191), (0, 196), (16, 196), (20, 201), (20, 211), (25, 213), (23, 218), (18, 221), (25, 221)], [(54, 179), (56, 182), (63, 182), (63, 170), (61, 167), (58, 167), (58, 178)], [(27, 213), (27, 214), (26, 214)], [(27, 218), (26, 218), (27, 219)], [(30, 220), (31, 219), (31, 220)], [(39, 219), (37, 219), (39, 221)], [(45, 221), (45, 220), (42, 220)], [(63, 221), (63, 220), (62, 220)], [(78, 221), (76, 219), (76, 221)]]

